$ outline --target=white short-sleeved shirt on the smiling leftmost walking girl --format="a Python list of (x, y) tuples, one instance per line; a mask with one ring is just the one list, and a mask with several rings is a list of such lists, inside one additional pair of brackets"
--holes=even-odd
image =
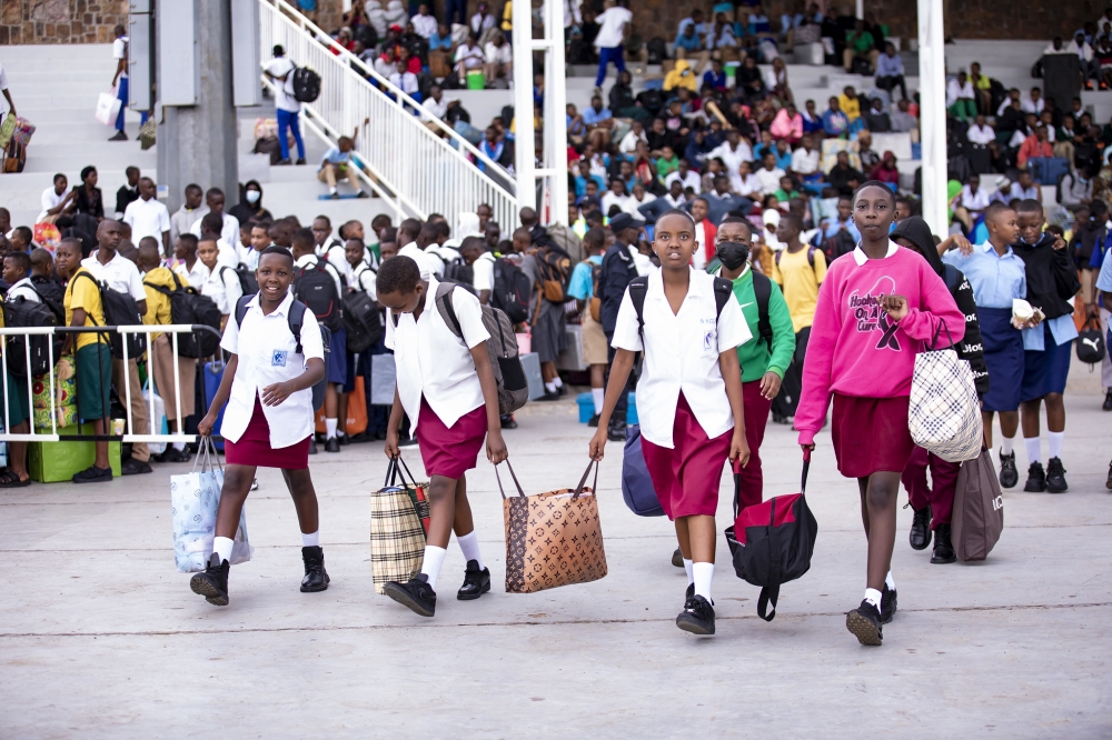
[[(224, 329), (220, 347), (239, 357), (220, 428), (225, 439), (238, 442), (247, 431), (255, 412), (255, 399), (261, 389), (297, 378), (305, 372), (309, 358), (325, 359), (317, 317), (309, 310), (306, 310), (301, 321), (304, 353), (295, 352), (297, 341), (289, 330), (288, 318), (292, 302), (294, 296), (287, 292), (278, 308), (269, 316), (264, 316), (256, 294), (247, 304), (242, 328), (232, 319)], [(279, 449), (300, 442), (314, 429), (312, 389), (290, 393), (278, 406), (264, 404), (262, 413), (270, 427), (271, 448)]]

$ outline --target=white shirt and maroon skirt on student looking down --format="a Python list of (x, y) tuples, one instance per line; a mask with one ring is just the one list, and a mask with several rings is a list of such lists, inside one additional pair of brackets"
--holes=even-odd
[(398, 398), (420, 444), (425, 472), (458, 479), (475, 468), (487, 432), (486, 400), (471, 348), (490, 339), (483, 308), (466, 290), (453, 290), (451, 306), (463, 339), (436, 308), (439, 282), (429, 277), (420, 318), (386, 311), (386, 347), (397, 363)]

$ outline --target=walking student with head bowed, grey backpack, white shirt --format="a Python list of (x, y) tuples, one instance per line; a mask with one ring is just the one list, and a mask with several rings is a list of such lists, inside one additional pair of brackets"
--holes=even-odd
[[(383, 262), (377, 279), (378, 302), (386, 307), (386, 347), (394, 350), (398, 382), (386, 431), (386, 456), (401, 453), (401, 416), (420, 443), (429, 484), (428, 539), (421, 572), (406, 583), (390, 581), (386, 596), (421, 617), (436, 611), (436, 581), (448, 539), (467, 561), (456, 598), (478, 599), (490, 590), (490, 571), (483, 562), (467, 501), (465, 473), (475, 468), (483, 439), (487, 459), (506, 459), (498, 417), (498, 389), (483, 326), (483, 308), (466, 290), (448, 288), (423, 274), (409, 257)], [(447, 317), (447, 318), (446, 318)], [(455, 317), (454, 324), (448, 320)]]

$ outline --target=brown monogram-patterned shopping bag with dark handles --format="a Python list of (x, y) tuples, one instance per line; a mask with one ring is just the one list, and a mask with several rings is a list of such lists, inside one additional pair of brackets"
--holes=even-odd
[[(584, 488), (592, 464), (595, 482)], [(595, 498), (598, 463), (587, 466), (574, 490), (562, 488), (537, 496), (525, 496), (508, 460), (506, 467), (518, 493), (506, 498), (495, 466), (506, 519), (506, 592), (533, 593), (605, 577), (606, 551)]]

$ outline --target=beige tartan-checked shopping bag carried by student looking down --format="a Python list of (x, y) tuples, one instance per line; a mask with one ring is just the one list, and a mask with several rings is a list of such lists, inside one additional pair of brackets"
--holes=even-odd
[(428, 536), (427, 491), (428, 483), (417, 483), (398, 457), (387, 466), (383, 488), (370, 494), (370, 572), (378, 593), (388, 582), (405, 583), (420, 572)]

